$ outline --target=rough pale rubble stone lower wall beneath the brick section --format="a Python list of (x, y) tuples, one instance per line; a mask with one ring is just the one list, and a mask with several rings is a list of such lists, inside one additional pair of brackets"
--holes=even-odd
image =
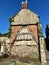
[[(11, 48), (11, 54), (20, 58), (32, 58), (39, 59), (38, 45), (31, 41), (19, 41), (16, 42)], [(23, 44), (21, 44), (23, 43)]]

